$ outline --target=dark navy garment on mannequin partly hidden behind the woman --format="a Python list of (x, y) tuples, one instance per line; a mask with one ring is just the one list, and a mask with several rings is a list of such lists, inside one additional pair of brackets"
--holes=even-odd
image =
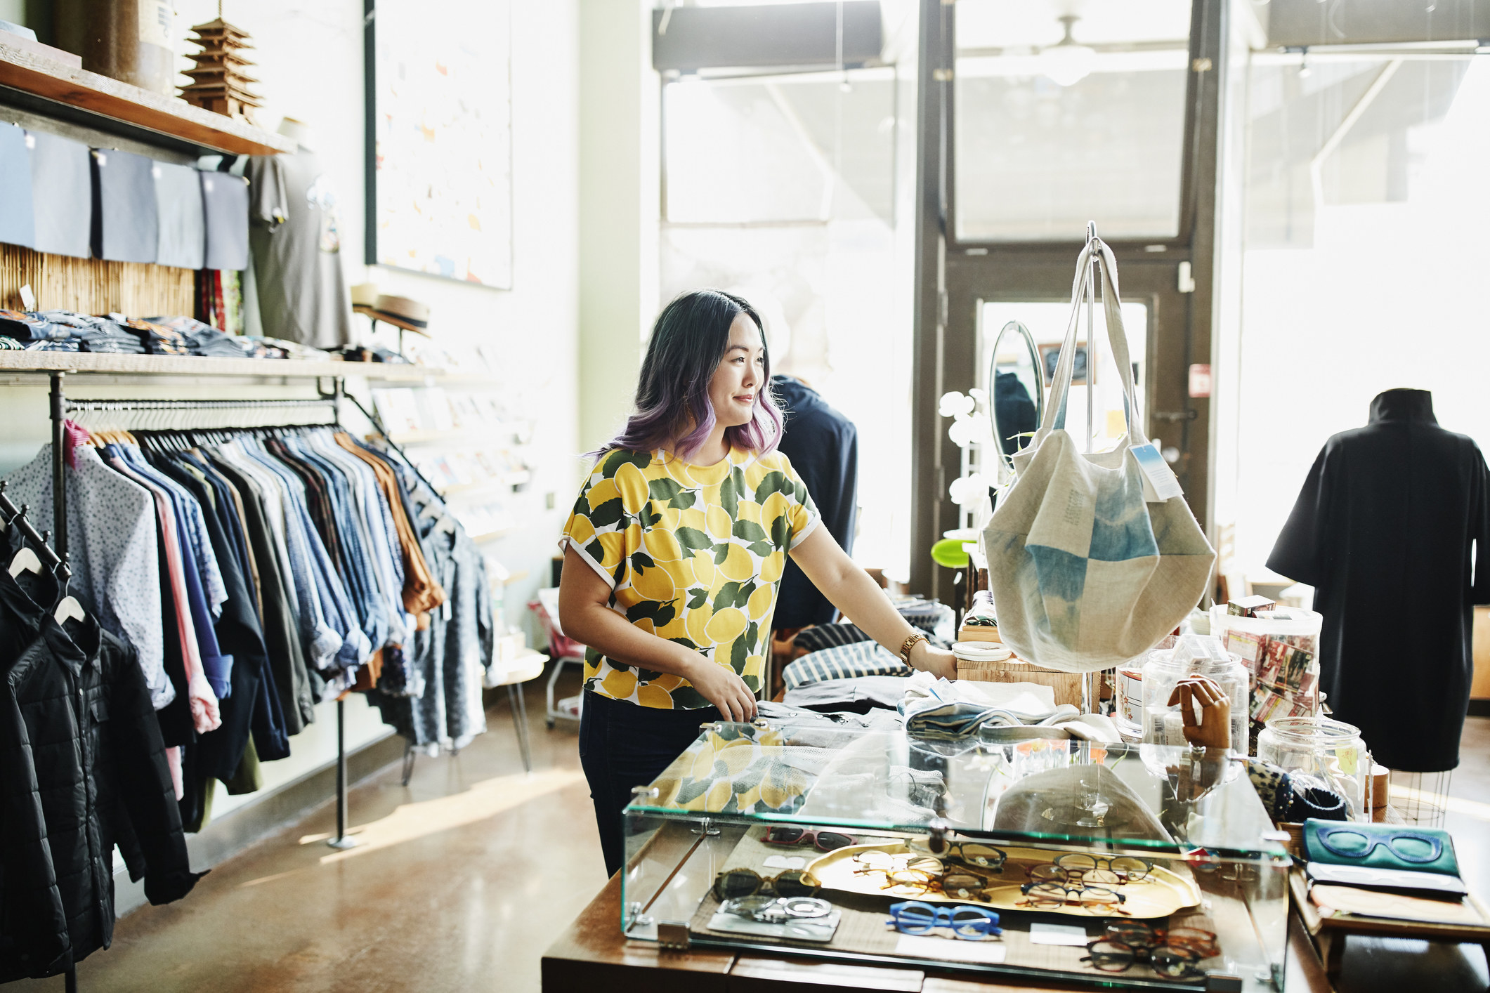
[[(858, 429), (828, 406), (818, 392), (790, 375), (770, 377), (787, 418), (781, 451), (791, 459), (822, 514), (822, 526), (845, 552), (854, 551), (854, 514), (858, 503)], [(787, 560), (776, 596), (775, 630), (831, 624), (837, 607), (828, 603), (797, 563)]]

